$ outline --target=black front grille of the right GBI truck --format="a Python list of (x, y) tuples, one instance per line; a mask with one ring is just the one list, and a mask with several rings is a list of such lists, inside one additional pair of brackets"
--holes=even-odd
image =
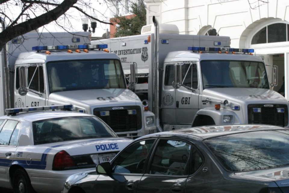
[[(277, 112), (278, 108), (284, 109), (284, 112)], [(260, 109), (261, 112), (254, 112), (254, 109)], [(287, 105), (250, 104), (248, 105), (248, 123), (287, 126)]]

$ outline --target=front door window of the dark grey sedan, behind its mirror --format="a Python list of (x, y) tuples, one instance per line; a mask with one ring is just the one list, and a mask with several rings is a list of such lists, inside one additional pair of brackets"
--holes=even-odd
[(124, 150), (113, 162), (114, 173), (141, 173), (154, 139), (138, 141)]

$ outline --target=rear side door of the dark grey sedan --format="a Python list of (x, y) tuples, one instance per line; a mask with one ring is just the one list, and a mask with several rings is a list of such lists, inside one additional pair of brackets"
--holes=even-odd
[(181, 140), (160, 139), (137, 192), (182, 193), (188, 179), (191, 144)]

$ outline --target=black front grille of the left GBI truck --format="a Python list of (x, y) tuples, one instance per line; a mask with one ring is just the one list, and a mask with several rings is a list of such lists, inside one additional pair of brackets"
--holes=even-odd
[[(116, 110), (113, 110), (116, 108)], [(136, 114), (129, 114), (128, 110), (136, 110)], [(101, 112), (109, 115), (101, 116)], [(93, 109), (93, 115), (102, 119), (114, 132), (137, 131), (141, 129), (141, 107), (122, 106)]]

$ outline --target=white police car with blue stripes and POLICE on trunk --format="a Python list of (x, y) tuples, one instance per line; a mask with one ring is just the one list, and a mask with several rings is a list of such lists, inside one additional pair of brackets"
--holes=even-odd
[(68, 176), (110, 161), (132, 141), (118, 138), (94, 115), (63, 111), (72, 108), (6, 109), (0, 117), (0, 187), (61, 192)]

